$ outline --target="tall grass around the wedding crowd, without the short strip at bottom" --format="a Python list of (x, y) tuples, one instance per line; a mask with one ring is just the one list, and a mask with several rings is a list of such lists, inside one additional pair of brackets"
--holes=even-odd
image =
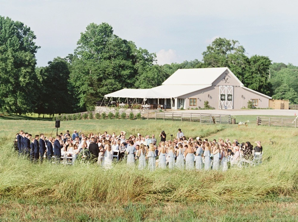
[[(297, 129), (200, 125), (147, 120), (68, 121), (66, 129), (83, 132), (126, 130), (128, 134), (155, 133), (167, 136), (181, 127), (185, 135), (209, 139), (237, 138), (239, 141), (262, 141), (263, 164), (257, 167), (229, 169), (227, 172), (180, 171), (157, 169), (139, 171), (124, 162), (114, 163), (111, 170), (97, 165), (62, 166), (31, 164), (10, 148), (19, 129), (38, 134), (51, 131), (51, 122), (0, 121), (0, 196), (35, 200), (100, 201), (106, 203), (268, 201), (290, 196), (297, 200)], [(120, 123), (118, 125), (118, 123)], [(174, 134), (175, 135), (175, 134)], [(269, 138), (277, 141), (269, 145)]]

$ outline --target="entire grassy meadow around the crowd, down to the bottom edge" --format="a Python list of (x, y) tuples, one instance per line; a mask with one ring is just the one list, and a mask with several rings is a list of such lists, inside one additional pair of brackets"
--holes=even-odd
[[(11, 145), (23, 129), (52, 132), (53, 121), (0, 120), (0, 221), (297, 221), (298, 129), (155, 120), (63, 121), (58, 132), (176, 135), (262, 141), (263, 164), (197, 172), (31, 164)], [(54, 130), (55, 131), (55, 130)], [(55, 132), (54, 132), (55, 134)], [(276, 144), (269, 144), (269, 138)]]

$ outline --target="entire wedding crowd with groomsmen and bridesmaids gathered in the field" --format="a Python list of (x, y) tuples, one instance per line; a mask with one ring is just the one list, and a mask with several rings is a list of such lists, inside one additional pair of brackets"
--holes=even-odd
[(137, 165), (140, 170), (168, 167), (221, 171), (252, 165), (256, 160), (260, 163), (263, 153), (260, 141), (256, 141), (253, 147), (249, 141), (239, 143), (237, 139), (187, 139), (181, 129), (178, 129), (176, 138), (169, 140), (162, 131), (158, 136), (159, 142), (154, 134), (127, 136), (125, 131), (119, 135), (115, 132), (79, 134), (74, 130), (70, 135), (67, 130), (56, 137), (45, 137), (43, 133), (32, 137), (21, 130), (16, 134), (15, 150), (19, 155), (26, 155), (33, 163), (42, 163), (46, 159), (51, 163), (97, 163), (105, 169), (111, 169), (115, 159), (126, 161), (128, 166)]

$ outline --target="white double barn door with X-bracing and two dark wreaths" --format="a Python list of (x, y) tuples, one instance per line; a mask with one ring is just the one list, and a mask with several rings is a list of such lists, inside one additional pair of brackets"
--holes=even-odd
[(219, 86), (218, 109), (233, 109), (233, 87)]

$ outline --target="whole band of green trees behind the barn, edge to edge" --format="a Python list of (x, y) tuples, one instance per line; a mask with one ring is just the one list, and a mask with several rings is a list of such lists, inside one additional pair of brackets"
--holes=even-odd
[(72, 113), (94, 110), (105, 94), (122, 88), (151, 88), (178, 69), (229, 67), (252, 90), (298, 103), (298, 67), (248, 57), (236, 40), (217, 38), (199, 61), (156, 64), (156, 53), (114, 34), (107, 23), (91, 23), (73, 53), (37, 67), (40, 48), (24, 23), (0, 16), (0, 110), (8, 113)]

